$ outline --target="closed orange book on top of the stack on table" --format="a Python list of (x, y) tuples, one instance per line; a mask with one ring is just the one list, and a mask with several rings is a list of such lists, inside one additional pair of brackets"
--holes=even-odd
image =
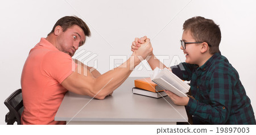
[(151, 91), (151, 92), (158, 92), (163, 91), (164, 89), (158, 85), (156, 85), (154, 82), (151, 81), (150, 77), (148, 78), (142, 78), (142, 79), (135, 79), (134, 85), (137, 88), (142, 88), (143, 90)]

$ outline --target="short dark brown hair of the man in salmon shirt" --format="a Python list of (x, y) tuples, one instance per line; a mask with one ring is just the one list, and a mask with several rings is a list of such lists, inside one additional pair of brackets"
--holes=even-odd
[(80, 28), (82, 28), (82, 31), (84, 31), (85, 36), (90, 36), (89, 27), (82, 19), (78, 18), (77, 16), (64, 16), (63, 18), (57, 20), (57, 22), (52, 28), (52, 31), (48, 33), (48, 36), (54, 32), (56, 26), (61, 26), (63, 32), (65, 32), (68, 28), (72, 27), (73, 25), (77, 25)]

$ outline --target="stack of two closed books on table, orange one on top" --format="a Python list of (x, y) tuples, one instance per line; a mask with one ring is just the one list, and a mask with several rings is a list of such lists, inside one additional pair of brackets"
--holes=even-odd
[(150, 78), (142, 78), (134, 80), (135, 87), (132, 89), (133, 94), (149, 96), (152, 98), (162, 98), (167, 96), (162, 87), (159, 87)]

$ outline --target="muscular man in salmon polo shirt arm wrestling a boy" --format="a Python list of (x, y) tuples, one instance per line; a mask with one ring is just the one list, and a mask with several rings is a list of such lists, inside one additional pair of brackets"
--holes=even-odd
[(21, 78), (22, 124), (65, 124), (64, 121), (54, 121), (65, 92), (104, 99), (141, 62), (138, 56), (146, 58), (152, 53), (152, 47), (147, 45), (114, 70), (102, 75), (97, 70), (90, 73), (90, 67), (72, 60), (76, 50), (85, 43), (86, 36), (90, 36), (90, 30), (84, 21), (76, 16), (65, 16), (30, 50)]

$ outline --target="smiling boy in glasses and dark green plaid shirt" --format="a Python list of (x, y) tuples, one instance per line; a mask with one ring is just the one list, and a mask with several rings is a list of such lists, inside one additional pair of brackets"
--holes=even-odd
[[(175, 104), (185, 106), (193, 116), (193, 124), (255, 124), (253, 108), (239, 75), (220, 53), (221, 31), (217, 24), (196, 16), (185, 21), (183, 30), (180, 49), (186, 60), (171, 69), (179, 78), (191, 81), (195, 99), (165, 91), (168, 96)], [(145, 39), (146, 36), (136, 38), (131, 50), (141, 44), (151, 45)], [(148, 64), (153, 70), (166, 68), (154, 54)]]

